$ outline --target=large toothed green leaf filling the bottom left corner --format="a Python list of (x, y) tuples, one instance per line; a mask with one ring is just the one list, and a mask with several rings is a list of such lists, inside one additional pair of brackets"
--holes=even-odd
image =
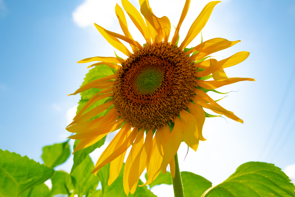
[(0, 149), (0, 196), (18, 196), (49, 179), (54, 170), (39, 162)]

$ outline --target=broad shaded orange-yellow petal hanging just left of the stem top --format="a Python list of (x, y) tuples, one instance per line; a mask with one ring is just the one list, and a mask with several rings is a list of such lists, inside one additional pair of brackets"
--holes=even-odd
[(166, 167), (168, 163), (171, 161), (171, 159), (174, 158), (175, 154), (177, 153), (183, 136), (183, 127), (181, 121), (177, 116), (174, 116), (174, 121), (175, 125), (167, 140), (164, 157), (161, 164), (161, 170), (164, 174), (166, 174)]

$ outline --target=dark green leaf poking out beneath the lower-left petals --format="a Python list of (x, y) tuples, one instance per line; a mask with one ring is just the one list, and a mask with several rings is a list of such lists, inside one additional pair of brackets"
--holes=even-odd
[[(101, 147), (104, 144), (104, 141), (106, 140), (106, 136), (104, 138), (102, 138), (101, 140), (99, 140), (98, 142), (96, 142), (95, 144), (91, 145), (91, 147), (87, 147), (85, 149), (82, 150), (78, 150), (77, 152), (74, 153), (74, 164), (72, 166), (70, 175), (74, 172), (74, 170), (76, 169), (76, 167), (78, 167), (81, 162), (83, 162), (83, 160), (87, 157), (87, 155), (91, 152), (93, 152), (95, 149)], [(78, 142), (80, 140), (76, 139), (75, 143), (74, 143), (74, 149), (76, 148)]]

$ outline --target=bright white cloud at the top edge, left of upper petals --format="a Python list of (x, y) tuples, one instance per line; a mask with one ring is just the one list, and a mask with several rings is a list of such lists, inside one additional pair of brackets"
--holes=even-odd
[(115, 0), (86, 0), (72, 13), (73, 20), (79, 27), (88, 27), (93, 23), (108, 27), (116, 17), (115, 5)]

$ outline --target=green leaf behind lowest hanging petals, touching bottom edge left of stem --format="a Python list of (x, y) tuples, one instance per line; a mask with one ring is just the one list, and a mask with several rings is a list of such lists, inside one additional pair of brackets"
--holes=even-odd
[[(101, 181), (102, 191), (103, 195), (101, 197), (126, 197), (126, 194), (124, 192), (123, 188), (123, 172), (124, 172), (124, 165), (122, 166), (121, 172), (118, 176), (118, 178), (111, 184), (111, 186), (108, 185), (108, 179), (109, 179), (109, 169), (110, 164), (105, 165), (102, 167), (97, 175), (99, 176), (99, 179)], [(143, 182), (141, 180), (138, 181), (138, 185), (142, 185)], [(135, 193), (132, 195), (129, 193), (128, 197), (136, 196), (136, 197), (156, 197), (153, 192), (148, 190), (148, 187), (146, 185), (142, 187), (137, 187), (135, 190)]]

